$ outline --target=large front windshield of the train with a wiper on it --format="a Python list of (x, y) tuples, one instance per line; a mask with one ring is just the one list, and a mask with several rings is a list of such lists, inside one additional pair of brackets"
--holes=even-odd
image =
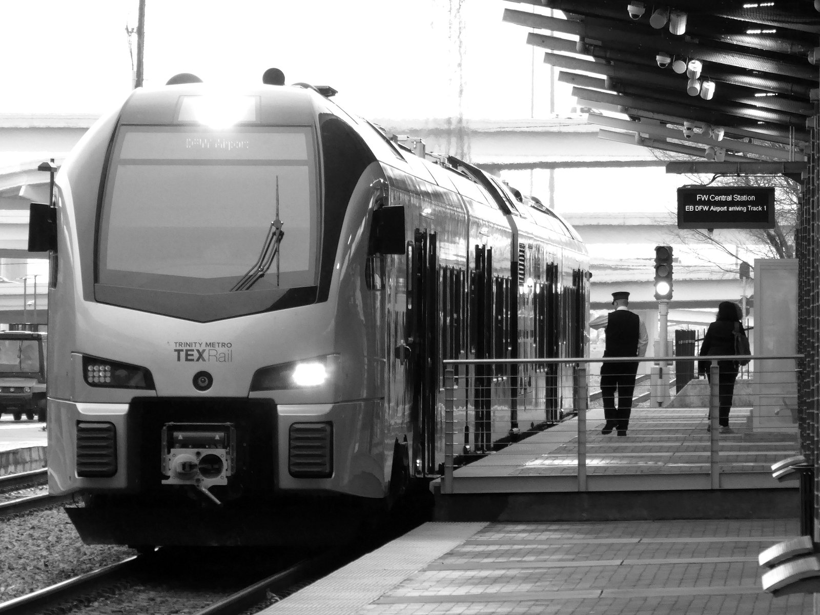
[[(270, 305), (289, 289), (317, 285), (310, 128), (124, 126), (112, 154), (98, 241), (98, 283), (109, 296), (253, 289), (271, 294), (262, 299)], [(253, 284), (243, 285), (248, 275)]]

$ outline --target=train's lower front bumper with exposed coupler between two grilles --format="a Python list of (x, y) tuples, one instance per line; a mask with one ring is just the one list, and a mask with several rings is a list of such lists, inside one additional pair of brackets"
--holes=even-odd
[[(210, 494), (218, 503), (248, 494), (375, 499), (385, 494), (375, 400), (277, 406), (271, 399), (134, 398), (130, 404), (49, 399), (48, 404), (52, 494), (140, 494), (155, 501), (190, 487), (207, 490), (203, 497)], [(221, 463), (196, 468), (208, 453)]]

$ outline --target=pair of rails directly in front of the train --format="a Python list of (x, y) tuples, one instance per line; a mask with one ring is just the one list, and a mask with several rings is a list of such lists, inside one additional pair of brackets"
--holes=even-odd
[[(19, 598), (8, 600), (0, 604), (0, 615), (32, 615), (33, 613), (48, 612), (51, 609), (72, 607), (72, 612), (83, 613), (83, 603), (104, 596), (107, 588), (116, 587), (120, 592), (129, 585), (139, 583), (134, 581), (140, 575), (155, 570), (157, 562), (162, 557), (162, 549), (155, 553), (135, 555), (120, 563), (100, 568), (73, 579), (62, 581), (56, 585), (51, 585), (42, 590), (37, 590), (31, 594), (20, 596)], [(198, 610), (195, 615), (237, 615), (253, 608), (254, 605), (270, 602), (271, 595), (289, 593), (289, 588), (311, 581), (318, 576), (323, 576), (335, 567), (349, 561), (349, 550), (345, 555), (342, 550), (333, 549), (324, 553), (319, 553), (314, 557), (302, 559), (296, 563), (291, 563), (270, 576), (266, 576), (261, 581), (248, 585), (242, 590), (229, 594), (222, 599), (212, 600), (212, 604)], [(175, 589), (163, 590), (166, 594), (173, 596)], [(110, 593), (110, 591), (109, 591)], [(190, 594), (178, 592), (180, 604), (186, 603), (190, 599)], [(168, 613), (180, 613), (180, 605), (169, 603), (166, 599)], [(157, 604), (159, 606), (159, 604)], [(89, 607), (92, 608), (92, 607)], [(90, 612), (90, 611), (89, 611)], [(161, 611), (157, 611), (161, 613)]]

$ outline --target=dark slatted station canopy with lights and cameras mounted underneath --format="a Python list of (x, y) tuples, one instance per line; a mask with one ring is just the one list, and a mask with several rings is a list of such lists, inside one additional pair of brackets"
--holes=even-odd
[[(667, 172), (799, 180), (814, 126), (820, 0), (507, 0), (503, 20), (572, 84), (599, 137), (682, 154)], [(680, 156), (679, 156), (680, 158)]]

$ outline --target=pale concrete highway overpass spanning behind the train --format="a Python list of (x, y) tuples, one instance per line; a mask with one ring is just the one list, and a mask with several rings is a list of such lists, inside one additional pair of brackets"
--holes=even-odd
[[(48, 173), (37, 171), (40, 162), (54, 158), (57, 165), (96, 120), (93, 115), (2, 115), (0, 114), (0, 276), (16, 280), (25, 275), (28, 209), (31, 202), (48, 200)], [(501, 174), (519, 171), (548, 171), (549, 197), (553, 201), (554, 171), (563, 169), (640, 169), (663, 167), (648, 148), (598, 138), (598, 126), (585, 114), (520, 121), (471, 121), (453, 125), (449, 120), (377, 120), (395, 134), (425, 139), (428, 151), (452, 153), (471, 159), (485, 169)], [(520, 177), (520, 174), (518, 175)], [(520, 186), (522, 189), (525, 186)], [(644, 189), (649, 189), (644, 187)], [(524, 190), (526, 192), (526, 189)], [(590, 248), (592, 258), (592, 308), (610, 307), (614, 290), (631, 292), (636, 309), (653, 310), (654, 245), (675, 244), (675, 226), (664, 213), (617, 212), (606, 206), (599, 212), (564, 213)], [(626, 231), (626, 232), (625, 232)], [(743, 238), (726, 235), (731, 244)], [(621, 257), (612, 246), (630, 246), (645, 258)], [(39, 255), (44, 257), (44, 255)], [(32, 318), (33, 288), (0, 284), (0, 323)], [(750, 291), (749, 291), (750, 292)], [(698, 309), (713, 309), (724, 299), (736, 301), (743, 294), (738, 276), (717, 267), (677, 263), (671, 322), (686, 323), (702, 317)], [(25, 302), (24, 302), (25, 295)], [(36, 320), (45, 321), (47, 298), (43, 278), (37, 289)], [(708, 319), (713, 318), (713, 312)]]

